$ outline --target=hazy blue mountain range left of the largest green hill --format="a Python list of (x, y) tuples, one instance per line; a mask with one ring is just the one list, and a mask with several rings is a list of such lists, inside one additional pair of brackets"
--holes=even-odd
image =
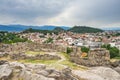
[(44, 26), (0, 25), (0, 31), (20, 32), (29, 28), (39, 29), (39, 30), (54, 30), (56, 27), (60, 27), (64, 30), (70, 29), (70, 27), (66, 27), (66, 26), (52, 26), (52, 25), (44, 25)]

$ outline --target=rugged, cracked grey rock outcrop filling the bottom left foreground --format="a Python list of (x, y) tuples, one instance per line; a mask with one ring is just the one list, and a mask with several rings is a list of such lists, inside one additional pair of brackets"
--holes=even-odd
[(62, 71), (46, 68), (43, 64), (22, 64), (18, 62), (0, 65), (0, 80), (79, 80), (71, 70)]

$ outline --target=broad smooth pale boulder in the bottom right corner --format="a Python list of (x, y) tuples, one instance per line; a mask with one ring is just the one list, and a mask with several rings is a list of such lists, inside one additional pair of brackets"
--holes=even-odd
[(73, 74), (88, 80), (120, 80), (120, 74), (108, 67), (94, 67), (85, 71), (72, 71)]

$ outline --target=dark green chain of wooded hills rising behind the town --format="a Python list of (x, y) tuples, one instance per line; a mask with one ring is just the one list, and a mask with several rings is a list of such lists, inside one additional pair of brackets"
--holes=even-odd
[[(29, 28), (29, 29), (24, 30), (23, 32), (24, 33), (40, 32), (40, 33), (46, 34), (46, 33), (59, 33), (61, 31), (66, 31), (66, 30), (64, 30), (64, 29), (62, 29), (60, 27), (57, 27), (54, 30), (38, 30), (38, 29)], [(97, 33), (97, 32), (103, 32), (103, 30), (101, 30), (101, 29), (92, 28), (92, 27), (86, 27), (86, 26), (75, 26), (75, 27), (70, 28), (67, 31), (71, 31), (71, 32), (74, 32), (74, 33)]]

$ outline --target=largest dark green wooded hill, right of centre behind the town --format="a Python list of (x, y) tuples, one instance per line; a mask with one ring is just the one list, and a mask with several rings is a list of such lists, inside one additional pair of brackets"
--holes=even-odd
[(87, 26), (74, 26), (73, 28), (69, 29), (68, 31), (74, 33), (96, 33), (96, 32), (103, 32), (103, 30), (98, 28), (92, 28)]

